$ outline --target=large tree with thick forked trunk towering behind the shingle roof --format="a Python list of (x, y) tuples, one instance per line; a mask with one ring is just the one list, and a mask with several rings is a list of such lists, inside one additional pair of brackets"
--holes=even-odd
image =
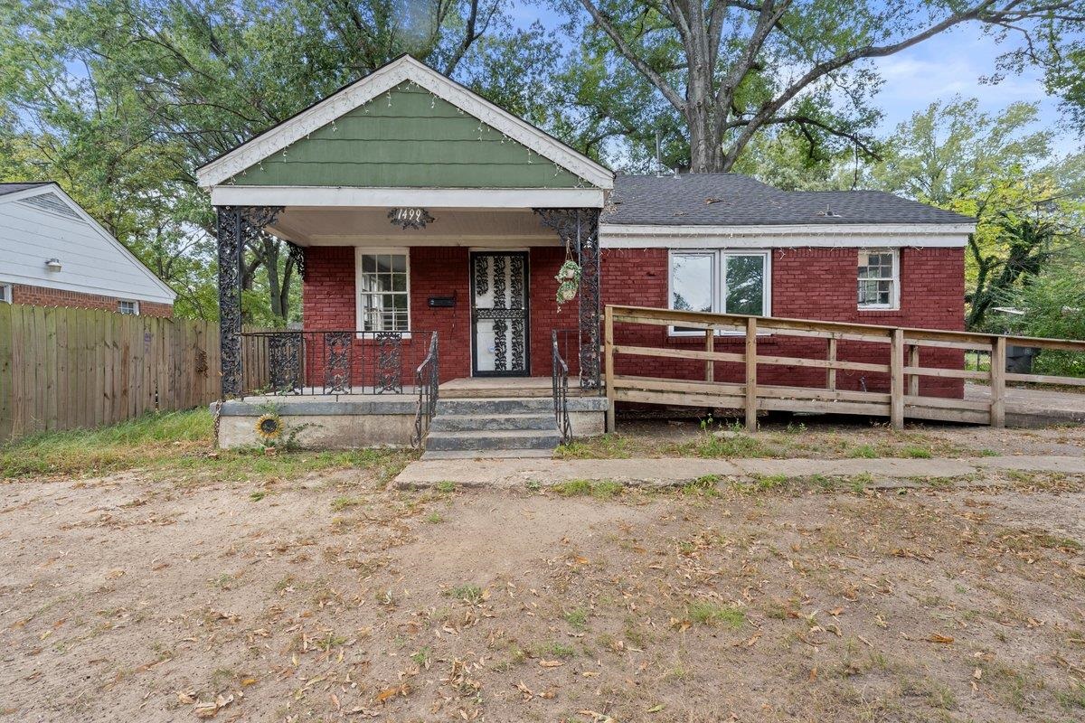
[(1081, 0), (551, 1), (582, 34), (571, 74), (584, 78), (583, 115), (628, 140), (640, 165), (656, 131), (675, 131), (667, 160), (693, 172), (732, 169), (778, 127), (876, 157), (872, 59), (972, 26), (1019, 41), (1001, 56), (1007, 72), (1048, 67), (1085, 21)]

